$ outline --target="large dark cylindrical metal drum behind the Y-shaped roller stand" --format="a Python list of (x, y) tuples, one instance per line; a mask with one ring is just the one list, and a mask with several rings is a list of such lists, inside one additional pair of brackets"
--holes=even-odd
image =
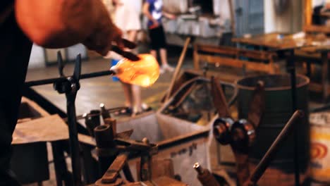
[[(291, 80), (289, 75), (259, 75), (245, 77), (236, 82), (238, 88), (238, 116), (247, 118), (252, 93), (257, 82), (262, 80), (265, 85), (265, 111), (259, 128), (255, 144), (249, 154), (252, 171), (262, 159), (267, 149), (274, 142), (279, 132), (291, 117)], [(300, 173), (307, 171), (310, 159), (310, 127), (308, 124), (308, 84), (310, 80), (303, 75), (297, 75), (297, 109), (306, 113), (306, 117), (298, 123), (298, 154)], [(289, 136), (285, 144), (276, 154), (269, 168), (259, 180), (259, 185), (293, 185), (294, 183), (294, 137)]]

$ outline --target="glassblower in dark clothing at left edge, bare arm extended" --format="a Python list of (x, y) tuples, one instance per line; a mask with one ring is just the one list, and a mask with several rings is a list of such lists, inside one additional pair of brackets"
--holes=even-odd
[(0, 185), (20, 185), (10, 171), (11, 141), (18, 119), (32, 43), (63, 48), (82, 43), (106, 55), (123, 48), (121, 30), (100, 0), (0, 1)]

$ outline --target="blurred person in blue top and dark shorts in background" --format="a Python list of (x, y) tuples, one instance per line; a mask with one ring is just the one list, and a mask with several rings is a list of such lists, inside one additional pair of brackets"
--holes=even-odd
[(146, 0), (145, 4), (143, 4), (143, 13), (148, 18), (147, 27), (151, 41), (150, 53), (154, 58), (157, 58), (157, 51), (159, 51), (161, 58), (161, 73), (164, 73), (166, 70), (173, 72), (174, 68), (167, 63), (166, 37), (164, 28), (161, 25), (161, 18), (164, 15), (166, 18), (175, 19), (176, 16), (163, 11), (162, 0)]

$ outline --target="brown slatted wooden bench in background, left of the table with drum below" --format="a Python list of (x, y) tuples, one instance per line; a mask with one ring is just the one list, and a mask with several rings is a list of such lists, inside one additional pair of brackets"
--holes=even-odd
[(216, 66), (231, 66), (243, 70), (255, 70), (265, 73), (279, 73), (279, 66), (274, 63), (276, 54), (270, 51), (252, 51), (230, 46), (212, 46), (195, 44), (194, 68), (200, 70), (200, 61)]

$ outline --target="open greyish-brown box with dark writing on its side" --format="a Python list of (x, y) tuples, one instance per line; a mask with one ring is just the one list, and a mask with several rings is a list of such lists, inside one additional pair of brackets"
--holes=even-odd
[[(147, 137), (159, 145), (159, 152), (153, 159), (171, 159), (174, 174), (180, 175), (188, 185), (200, 185), (197, 172), (193, 169), (196, 162), (207, 165), (208, 128), (178, 118), (172, 118), (161, 111), (144, 113), (135, 118), (117, 121), (118, 132), (133, 129), (133, 140)], [(140, 159), (128, 161), (133, 175), (137, 175), (136, 164)]]

